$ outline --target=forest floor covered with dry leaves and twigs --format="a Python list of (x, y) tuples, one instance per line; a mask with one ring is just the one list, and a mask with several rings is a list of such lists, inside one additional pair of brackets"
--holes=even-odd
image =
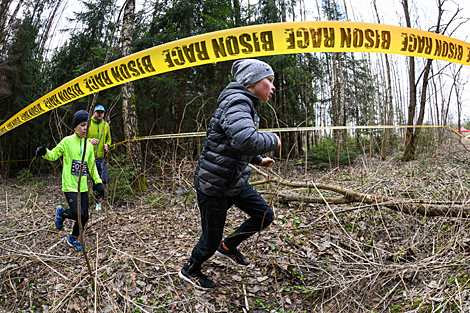
[[(211, 291), (178, 277), (200, 234), (195, 193), (175, 193), (191, 188), (194, 163), (181, 163), (177, 174), (149, 173), (148, 191), (134, 199), (101, 211), (90, 201), (84, 238), (93, 282), (83, 253), (66, 244), (72, 222), (60, 232), (54, 227), (55, 208), (65, 206), (60, 177), (0, 180), (0, 312), (470, 312), (465, 145), (449, 144), (411, 162), (359, 156), (351, 166), (327, 170), (278, 161), (274, 171), (292, 181), (403, 203), (441, 201), (460, 205), (462, 216), (265, 195), (276, 217), (241, 245), (252, 263), (237, 268), (209, 259), (203, 271), (219, 284)], [(245, 218), (231, 208), (226, 233)]]

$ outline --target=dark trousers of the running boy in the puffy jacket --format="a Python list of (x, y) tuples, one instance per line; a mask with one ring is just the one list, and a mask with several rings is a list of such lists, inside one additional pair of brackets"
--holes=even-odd
[(227, 210), (236, 205), (250, 217), (225, 240), (229, 249), (236, 248), (243, 240), (256, 232), (266, 228), (274, 219), (274, 212), (253, 186), (246, 184), (245, 189), (233, 197), (215, 198), (197, 193), (199, 211), (201, 213), (202, 235), (191, 253), (191, 260), (195, 269), (207, 261), (222, 242)]

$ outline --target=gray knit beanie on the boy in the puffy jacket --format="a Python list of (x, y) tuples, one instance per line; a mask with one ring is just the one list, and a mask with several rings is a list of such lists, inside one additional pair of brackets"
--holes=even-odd
[(248, 87), (263, 78), (274, 76), (274, 71), (271, 66), (263, 61), (243, 59), (233, 62), (232, 75), (237, 82)]

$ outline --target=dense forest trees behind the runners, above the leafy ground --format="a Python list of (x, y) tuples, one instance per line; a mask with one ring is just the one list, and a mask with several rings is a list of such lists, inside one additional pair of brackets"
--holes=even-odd
[[(54, 88), (129, 52), (239, 26), (298, 20), (348, 21), (349, 15), (355, 15), (355, 8), (348, 7), (346, 1), (334, 0), (317, 0), (313, 12), (306, 10), (304, 0), (146, 1), (138, 10), (134, 1), (126, 1), (122, 7), (111, 0), (86, 0), (81, 4), (83, 10), (75, 12), (69, 21), (75, 26), (57, 29), (51, 25), (61, 16), (63, 0), (1, 1), (0, 123)], [(414, 2), (402, 0), (400, 4), (403, 10), (397, 14), (401, 26), (452, 36), (468, 20), (451, 1), (433, 4), (437, 15), (426, 16), (425, 21)], [(380, 23), (375, 1), (371, 5), (376, 11), (375, 22)], [(67, 40), (55, 46), (51, 42), (54, 32), (64, 32)], [(262, 59), (272, 65), (277, 89), (272, 100), (260, 108), (261, 128), (466, 125), (462, 117), (466, 84), (461, 77), (462, 65), (360, 53)], [(73, 113), (89, 109), (93, 101), (107, 108), (115, 143), (135, 135), (205, 131), (218, 94), (232, 80), (231, 63), (138, 80), (130, 92), (115, 87), (59, 107), (0, 137), (0, 159), (30, 160), (38, 145), (52, 148), (71, 133)], [(129, 99), (135, 104), (131, 112), (135, 123), (127, 116)], [(125, 126), (132, 129), (126, 133)], [(341, 157), (345, 149), (353, 154), (381, 152), (383, 158), (401, 149), (404, 159), (412, 159), (419, 149), (420, 132), (419, 128), (408, 128), (283, 133), (282, 149), (275, 157), (297, 158), (308, 153), (320, 163), (339, 165), (346, 160)], [(424, 142), (430, 140), (434, 139), (426, 138)], [(143, 152), (145, 164), (161, 158), (168, 148), (193, 159), (200, 144), (201, 139), (154, 140), (136, 149)], [(318, 155), (326, 148), (331, 148), (331, 153)], [(4, 162), (0, 164), (1, 174), (8, 177), (27, 166), (25, 162)]]

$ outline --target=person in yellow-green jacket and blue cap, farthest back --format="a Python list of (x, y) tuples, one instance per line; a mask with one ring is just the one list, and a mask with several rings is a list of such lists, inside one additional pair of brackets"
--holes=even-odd
[[(101, 104), (95, 106), (93, 116), (90, 119), (90, 126), (88, 127), (88, 141), (95, 149), (95, 162), (98, 175), (100, 176), (103, 184), (109, 182), (108, 167), (104, 160), (104, 152), (108, 152), (111, 145), (111, 132), (109, 124), (104, 120), (106, 110)], [(93, 185), (94, 187), (94, 185)], [(101, 203), (96, 200), (95, 210), (101, 210)]]

